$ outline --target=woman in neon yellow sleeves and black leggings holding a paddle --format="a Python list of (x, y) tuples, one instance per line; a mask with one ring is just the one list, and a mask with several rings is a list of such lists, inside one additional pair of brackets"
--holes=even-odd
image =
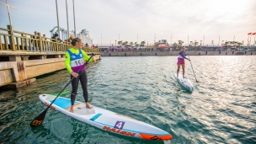
[[(80, 38), (74, 38), (71, 44), (73, 47), (68, 49), (66, 52), (65, 64), (67, 67), (67, 71), (71, 73), (71, 78), (75, 77), (72, 80), (72, 93), (71, 93), (72, 104), (70, 108), (70, 111), (73, 113), (74, 112), (73, 106), (76, 100), (77, 87), (78, 87), (79, 81), (83, 88), (83, 98), (86, 106), (89, 109), (93, 108), (93, 106), (88, 103), (88, 89), (87, 89), (88, 78), (86, 74), (86, 67), (83, 67), (83, 59), (87, 61), (89, 59), (89, 56), (83, 50), (81, 50), (83, 46), (83, 40), (81, 40)], [(93, 56), (93, 59), (95, 61), (94, 56)], [(90, 62), (93, 61), (93, 59), (91, 59)], [(80, 72), (78, 72), (78, 70), (81, 67), (83, 68), (81, 69)]]

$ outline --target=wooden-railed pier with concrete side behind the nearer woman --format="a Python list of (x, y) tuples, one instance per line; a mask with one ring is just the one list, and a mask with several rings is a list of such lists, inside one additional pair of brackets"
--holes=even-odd
[[(0, 89), (19, 88), (33, 83), (37, 76), (56, 72), (65, 67), (65, 53), (72, 45), (57, 39), (37, 38), (28, 34), (0, 28)], [(99, 49), (83, 47), (88, 56), (92, 53), (100, 60)]]

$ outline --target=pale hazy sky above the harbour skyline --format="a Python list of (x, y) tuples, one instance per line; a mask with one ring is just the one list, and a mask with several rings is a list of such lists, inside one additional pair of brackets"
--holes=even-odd
[[(67, 29), (66, 0), (57, 2), (60, 27)], [(72, 0), (67, 3), (72, 30)], [(10, 9), (13, 29), (51, 36), (57, 25), (56, 0), (9, 0), (9, 4), (18, 8)], [(256, 0), (75, 0), (75, 13), (77, 32), (87, 29), (94, 44), (115, 44), (115, 40), (187, 44), (188, 35), (189, 41), (204, 40), (205, 35), (205, 44), (211, 40), (218, 44), (219, 35), (220, 43), (234, 35), (247, 43), (248, 33), (256, 32)], [(8, 24), (7, 8), (0, 4), (0, 27)]]

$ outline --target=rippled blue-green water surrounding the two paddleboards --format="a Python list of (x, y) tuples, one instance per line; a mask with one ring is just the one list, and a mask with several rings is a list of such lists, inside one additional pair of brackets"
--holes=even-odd
[[(41, 93), (59, 93), (67, 70), (0, 92), (0, 143), (256, 143), (256, 56), (190, 56), (186, 76), (195, 91), (173, 79), (176, 56), (102, 57), (90, 64), (90, 104), (157, 126), (171, 141), (144, 141), (99, 130), (49, 109), (44, 123), (29, 123), (46, 108)], [(196, 83), (196, 79), (199, 83)], [(69, 85), (65, 91), (71, 90)], [(83, 100), (78, 88), (77, 100)], [(70, 98), (69, 94), (63, 97)]]

